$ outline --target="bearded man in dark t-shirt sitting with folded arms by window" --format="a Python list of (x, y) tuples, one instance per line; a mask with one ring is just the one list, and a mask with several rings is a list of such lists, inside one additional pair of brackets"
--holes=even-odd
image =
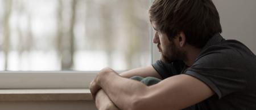
[(211, 0), (155, 0), (149, 14), (161, 59), (102, 69), (90, 85), (98, 109), (256, 109), (256, 56), (220, 35)]

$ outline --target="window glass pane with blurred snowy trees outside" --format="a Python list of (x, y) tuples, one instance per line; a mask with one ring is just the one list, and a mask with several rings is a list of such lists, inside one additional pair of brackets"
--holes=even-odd
[(0, 0), (0, 71), (151, 63), (147, 0)]

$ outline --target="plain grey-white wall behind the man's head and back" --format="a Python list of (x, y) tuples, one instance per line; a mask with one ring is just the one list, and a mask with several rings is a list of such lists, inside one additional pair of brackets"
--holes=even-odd
[(256, 54), (256, 1), (213, 0), (220, 14), (222, 36), (237, 39)]

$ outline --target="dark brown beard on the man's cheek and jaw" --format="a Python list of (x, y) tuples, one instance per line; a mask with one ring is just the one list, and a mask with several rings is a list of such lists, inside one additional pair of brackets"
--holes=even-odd
[(184, 61), (185, 59), (186, 59), (185, 52), (177, 49), (173, 41), (167, 46), (166, 51), (162, 51), (161, 60), (164, 63), (172, 63), (175, 60)]

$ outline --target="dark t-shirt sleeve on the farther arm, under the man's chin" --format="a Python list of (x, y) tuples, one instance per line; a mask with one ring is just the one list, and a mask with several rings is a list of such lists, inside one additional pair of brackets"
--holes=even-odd
[(164, 63), (161, 60), (156, 61), (156, 63), (152, 64), (152, 67), (155, 68), (156, 72), (160, 74), (160, 76), (165, 79), (176, 74), (180, 74), (180, 72), (184, 68), (183, 61), (174, 61), (172, 63)]

